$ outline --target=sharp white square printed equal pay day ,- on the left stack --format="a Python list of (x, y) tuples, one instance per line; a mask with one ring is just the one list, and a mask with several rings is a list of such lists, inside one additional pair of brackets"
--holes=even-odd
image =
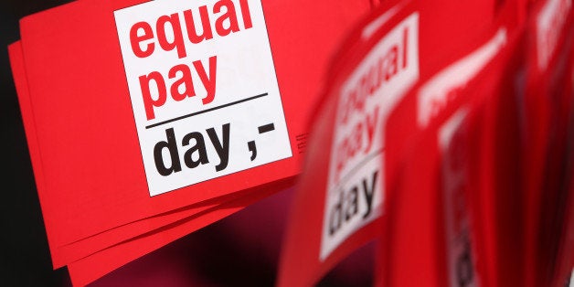
[(260, 0), (114, 16), (150, 196), (292, 156)]

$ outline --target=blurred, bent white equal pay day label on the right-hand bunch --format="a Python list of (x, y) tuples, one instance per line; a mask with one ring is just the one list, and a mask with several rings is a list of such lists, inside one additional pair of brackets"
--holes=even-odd
[(388, 113), (419, 79), (419, 14), (388, 32), (345, 81), (329, 162), (320, 260), (377, 218)]

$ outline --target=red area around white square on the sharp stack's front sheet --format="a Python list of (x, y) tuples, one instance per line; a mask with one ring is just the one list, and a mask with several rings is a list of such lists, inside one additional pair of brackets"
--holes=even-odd
[[(55, 260), (56, 266), (78, 259), (75, 255), (58, 254), (60, 247), (72, 242), (210, 198), (297, 175), (306, 132), (303, 122), (307, 112), (302, 111), (314, 102), (321, 69), (337, 43), (336, 36), (341, 36), (345, 26), (368, 9), (367, 2), (341, 4), (340, 7), (330, 4), (335, 6), (330, 13), (317, 13), (322, 11), (321, 5), (326, 5), (321, 2), (302, 2), (301, 5), (308, 9), (300, 9), (292, 3), (263, 5), (292, 157), (151, 197), (138, 144), (141, 139), (135, 133), (136, 111), (126, 84), (125, 58), (122, 63), (118, 43), (122, 34), (116, 29), (118, 23), (113, 14), (136, 4), (134, 1), (73, 2), (21, 21), (30, 114), (34, 117), (25, 122), (34, 122), (27, 124), (28, 138), (36, 138), (41, 149), (41, 155), (35, 151), (38, 155), (32, 157), (33, 161), (38, 158), (35, 163), (35, 173), (41, 182), (38, 193), (50, 250), (54, 258), (59, 258)], [(248, 11), (244, 2), (239, 5), (243, 5), (241, 12)], [(250, 2), (247, 5), (257, 4)], [(251, 18), (251, 23), (247, 18), (249, 16), (241, 15), (245, 30), (261, 25), (261, 22), (255, 22), (255, 17)], [(309, 28), (309, 20), (316, 21), (317, 29)], [(285, 26), (284, 23), (291, 24)], [(324, 30), (330, 32), (324, 33)], [(162, 43), (157, 45), (159, 48)], [(210, 65), (211, 62), (204, 60), (203, 63)], [(301, 69), (302, 63), (310, 68)], [(153, 87), (151, 85), (148, 87)], [(277, 105), (274, 107), (276, 109)], [(265, 122), (255, 130), (264, 134), (272, 133), (275, 128), (281, 128), (279, 123)], [(205, 141), (213, 143), (214, 137), (207, 139), (208, 130), (204, 130), (207, 132), (204, 133)], [(212, 131), (224, 138), (225, 124)], [(158, 142), (158, 150), (164, 157), (169, 157), (165, 153), (174, 154), (173, 144), (167, 130), (165, 135), (164, 145)], [(274, 144), (268, 143), (268, 146)], [(247, 157), (254, 154), (250, 145), (250, 142), (245, 144)], [(263, 154), (265, 149), (259, 148), (259, 153)], [(163, 165), (169, 164), (164, 161)], [(219, 163), (216, 169), (217, 166), (223, 165)], [(66, 203), (65, 208), (61, 208), (62, 203)], [(206, 207), (209, 206), (201, 208)], [(185, 218), (183, 215), (177, 217)], [(147, 222), (142, 225), (148, 225)]]

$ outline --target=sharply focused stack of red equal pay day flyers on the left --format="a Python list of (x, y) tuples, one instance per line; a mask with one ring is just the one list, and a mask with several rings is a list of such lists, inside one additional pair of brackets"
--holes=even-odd
[(80, 0), (22, 19), (9, 52), (54, 268), (87, 284), (292, 186), (326, 62), (370, 9)]

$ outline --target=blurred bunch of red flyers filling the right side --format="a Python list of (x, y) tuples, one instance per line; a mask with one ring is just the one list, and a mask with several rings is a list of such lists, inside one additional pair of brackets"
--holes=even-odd
[(410, 0), (358, 23), (312, 121), (278, 284), (375, 240), (377, 286), (564, 286), (573, 16), (566, 0)]

